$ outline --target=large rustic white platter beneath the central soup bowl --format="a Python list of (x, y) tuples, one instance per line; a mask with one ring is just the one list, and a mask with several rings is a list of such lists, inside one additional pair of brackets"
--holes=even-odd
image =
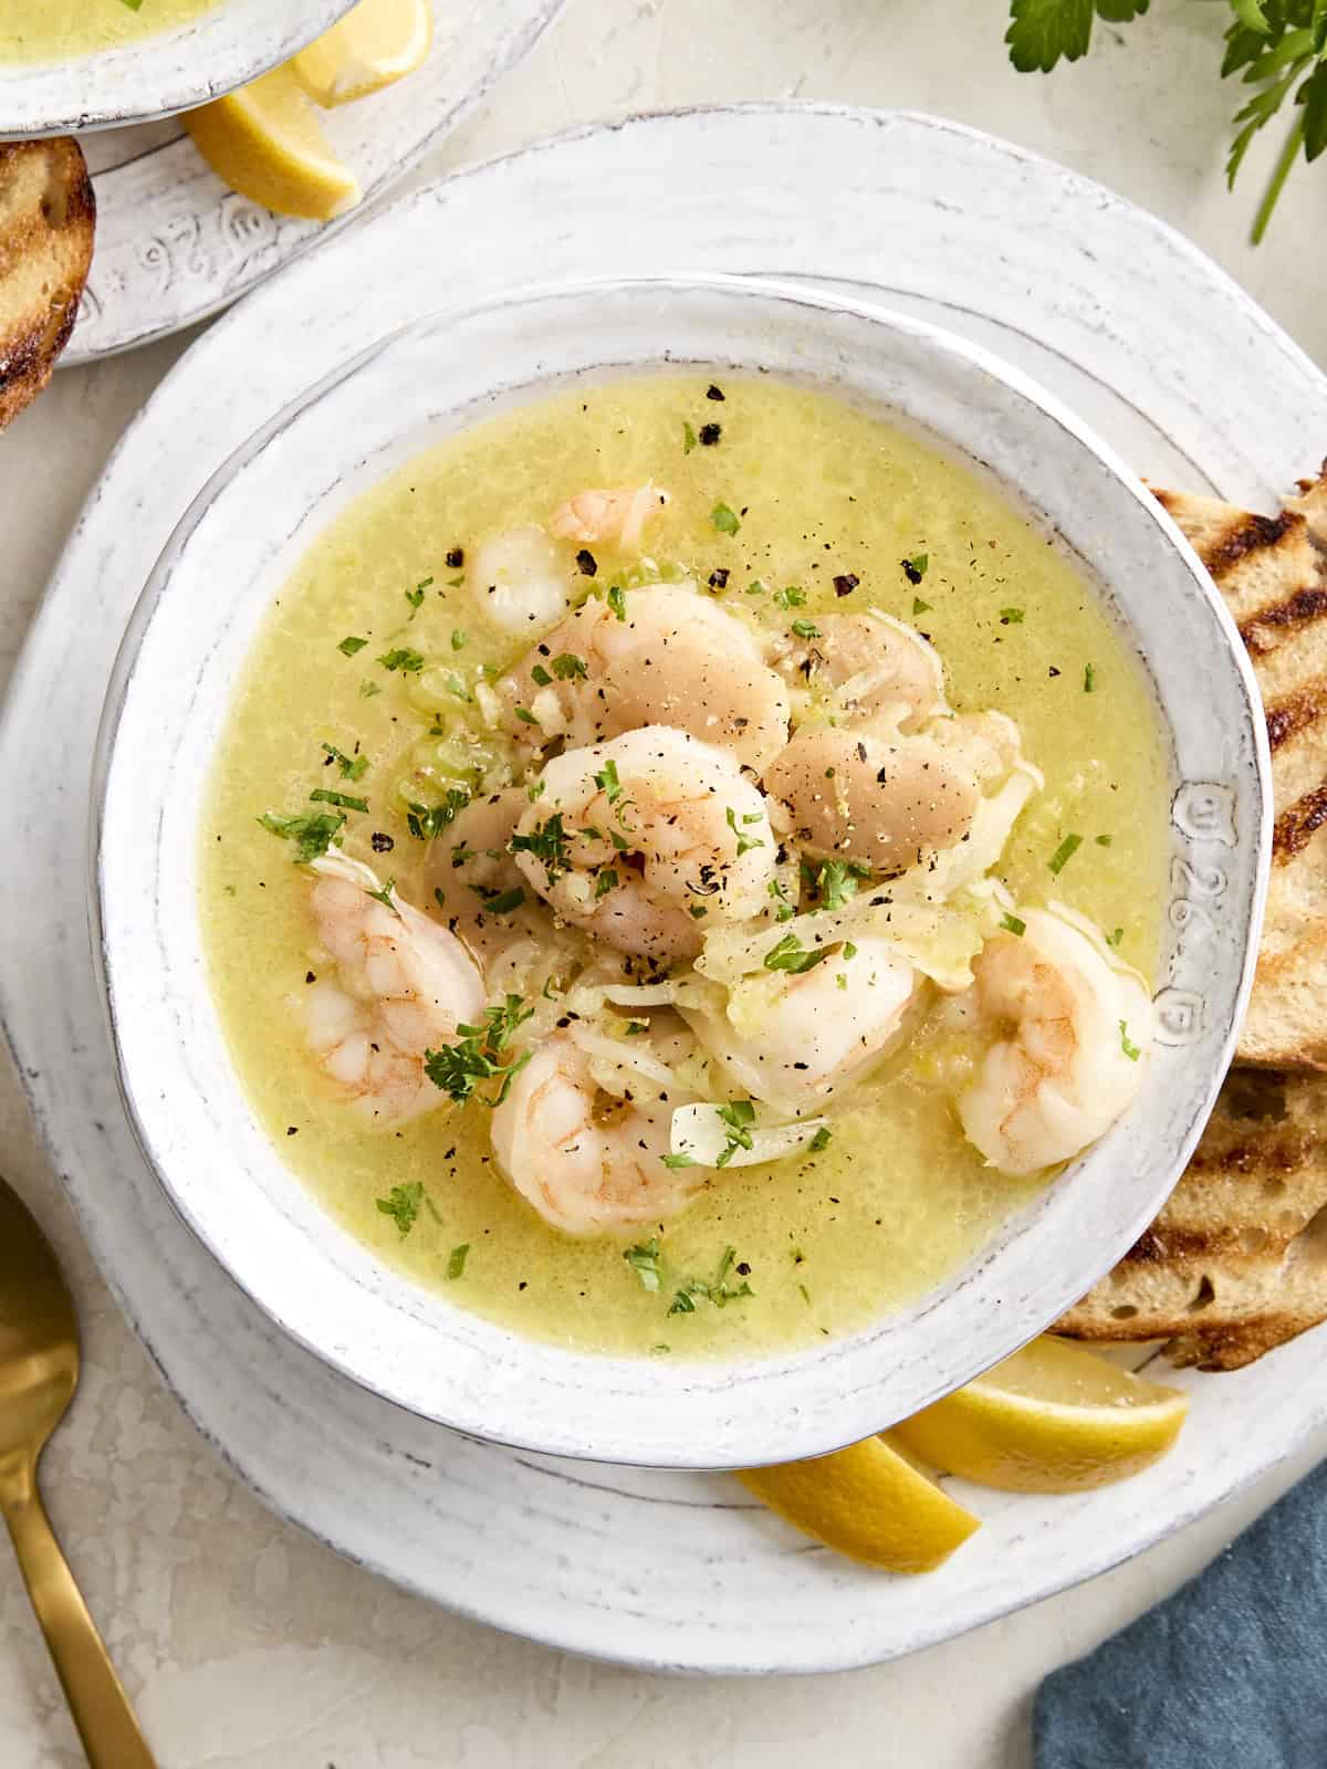
[[(609, 234), (621, 274), (814, 272), (879, 292), (1000, 350), (1171, 485), (1269, 506), (1327, 444), (1327, 380), (1198, 251), (1099, 186), (950, 124), (694, 111), (464, 173), (221, 320), (94, 492), (0, 725), (23, 856), (0, 872), (0, 1012), (106, 1275), (200, 1431), (269, 1504), (412, 1590), (559, 1647), (715, 1673), (840, 1670), (1090, 1578), (1228, 1497), (1327, 1417), (1327, 1334), (1231, 1376), (1182, 1376), (1191, 1422), (1141, 1479), (1076, 1498), (966, 1491), (987, 1527), (943, 1571), (863, 1573), (722, 1475), (494, 1449), (281, 1337), (143, 1164), (92, 976), (97, 713), (127, 612), (188, 501), (269, 412), (375, 329), (433, 308), (441, 276), (456, 301), (573, 280), (586, 239)], [(262, 382), (246, 371), (255, 352)]]

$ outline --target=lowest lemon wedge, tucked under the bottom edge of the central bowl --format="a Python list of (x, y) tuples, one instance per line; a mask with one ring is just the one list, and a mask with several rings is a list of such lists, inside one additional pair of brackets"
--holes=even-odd
[(980, 1518), (878, 1436), (738, 1479), (807, 1535), (892, 1573), (931, 1573), (980, 1528)]

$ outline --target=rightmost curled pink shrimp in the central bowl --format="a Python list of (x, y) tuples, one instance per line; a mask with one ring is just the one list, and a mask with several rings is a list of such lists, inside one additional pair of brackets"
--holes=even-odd
[(964, 1003), (998, 1042), (959, 1099), (973, 1143), (1005, 1173), (1069, 1160), (1132, 1106), (1152, 1045), (1152, 1001), (1090, 922), (1019, 909), (1023, 934), (994, 934)]

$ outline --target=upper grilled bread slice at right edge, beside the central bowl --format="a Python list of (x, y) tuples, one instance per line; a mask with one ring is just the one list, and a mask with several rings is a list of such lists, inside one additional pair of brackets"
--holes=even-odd
[(1272, 745), (1272, 877), (1235, 1060), (1327, 1070), (1327, 463), (1279, 517), (1157, 497), (1235, 616)]

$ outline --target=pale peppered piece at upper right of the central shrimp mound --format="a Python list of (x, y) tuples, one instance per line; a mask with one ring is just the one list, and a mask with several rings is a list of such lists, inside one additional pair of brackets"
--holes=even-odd
[(895, 729), (915, 731), (943, 709), (945, 667), (915, 626), (878, 609), (821, 614), (814, 626), (816, 637), (794, 646), (784, 669), (832, 686), (840, 722), (886, 715)]

